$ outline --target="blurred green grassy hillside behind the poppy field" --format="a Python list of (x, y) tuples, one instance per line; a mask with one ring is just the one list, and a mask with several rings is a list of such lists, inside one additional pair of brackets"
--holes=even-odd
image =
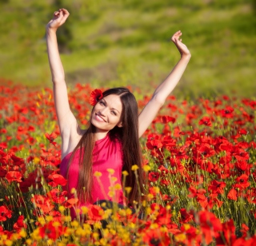
[(0, 77), (51, 86), (45, 26), (54, 10), (66, 82), (152, 91), (178, 62), (182, 30), (192, 58), (174, 93), (256, 95), (255, 0), (0, 0)]

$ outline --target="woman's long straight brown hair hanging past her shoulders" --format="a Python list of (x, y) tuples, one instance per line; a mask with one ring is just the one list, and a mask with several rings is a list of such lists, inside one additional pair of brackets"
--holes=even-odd
[[(103, 97), (110, 94), (115, 94), (120, 97), (122, 101), (122, 114), (121, 122), (122, 127), (115, 126), (110, 130), (110, 138), (117, 138), (122, 142), (123, 153), (123, 168), (129, 173), (126, 177), (126, 187), (130, 187), (131, 192), (127, 195), (129, 203), (132, 205), (133, 201), (140, 201), (141, 194), (143, 192), (143, 176), (142, 176), (142, 151), (138, 141), (138, 104), (129, 89), (124, 87), (118, 87), (113, 89), (107, 89), (102, 93)], [(93, 111), (94, 109), (92, 109)], [(74, 154), (78, 149), (85, 149), (79, 154), (79, 176), (78, 176), (78, 197), (82, 200), (91, 200), (91, 189), (93, 186), (93, 173), (92, 173), (92, 160), (94, 149), (94, 133), (95, 126), (88, 122), (88, 128), (86, 133), (83, 134), (78, 145), (75, 147), (71, 154), (68, 164), (67, 177), (69, 172), (70, 163), (74, 158)], [(86, 153), (86, 154), (84, 154)], [(138, 177), (136, 178), (134, 171), (131, 170), (133, 165), (138, 165)], [(124, 187), (123, 187), (124, 188)]]

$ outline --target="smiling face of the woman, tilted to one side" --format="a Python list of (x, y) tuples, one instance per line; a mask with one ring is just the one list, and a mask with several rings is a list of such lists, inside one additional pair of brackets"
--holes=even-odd
[(94, 106), (91, 123), (96, 127), (96, 132), (109, 132), (116, 125), (122, 127), (122, 101), (118, 95), (110, 94), (103, 97)]

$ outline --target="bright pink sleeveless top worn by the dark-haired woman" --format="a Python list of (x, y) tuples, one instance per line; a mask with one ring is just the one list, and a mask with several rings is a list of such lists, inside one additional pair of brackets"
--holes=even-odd
[[(69, 174), (67, 176), (68, 162), (71, 154), (72, 152), (68, 153), (60, 164), (60, 174), (68, 179), (68, 185), (65, 189), (68, 192), (69, 198), (74, 197), (70, 192), (72, 188), (77, 188), (79, 173), (79, 152), (77, 151), (70, 164)], [(117, 139), (111, 140), (109, 134), (96, 141), (93, 150), (93, 173), (102, 173), (102, 176), (99, 177), (101, 184), (97, 181), (96, 177), (93, 177), (92, 200), (86, 203), (81, 202), (80, 207), (89, 206), (98, 200), (112, 200), (118, 204), (123, 204), (122, 165), (122, 144), (120, 141)], [(111, 177), (115, 177), (114, 179), (110, 179), (110, 173), (107, 169), (114, 169), (114, 174), (111, 175)], [(120, 189), (115, 189), (115, 195), (111, 197), (110, 188), (114, 185), (115, 188), (119, 186)]]

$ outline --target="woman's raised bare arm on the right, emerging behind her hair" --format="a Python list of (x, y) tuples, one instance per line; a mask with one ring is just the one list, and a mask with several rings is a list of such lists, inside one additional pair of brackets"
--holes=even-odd
[(170, 72), (166, 79), (160, 85), (158, 85), (158, 88), (154, 91), (152, 98), (138, 116), (139, 137), (142, 136), (142, 134), (154, 120), (154, 117), (158, 113), (159, 109), (165, 103), (166, 98), (178, 84), (178, 81), (186, 69), (186, 65), (190, 61), (190, 50), (188, 50), (187, 47), (182, 43), (182, 39), (179, 39), (181, 36), (182, 32), (178, 31), (171, 38), (172, 42), (174, 42), (181, 54), (181, 59), (174, 66), (174, 69)]

